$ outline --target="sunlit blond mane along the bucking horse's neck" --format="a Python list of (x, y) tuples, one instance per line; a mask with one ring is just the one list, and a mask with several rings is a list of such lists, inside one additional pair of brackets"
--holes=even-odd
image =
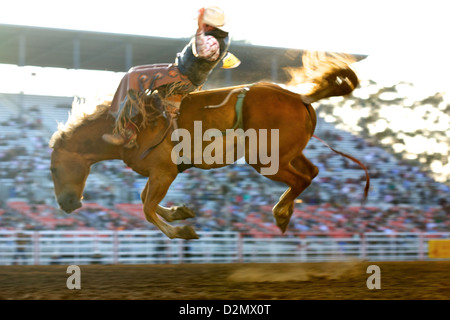
[(108, 112), (110, 106), (111, 101), (107, 100), (100, 103), (91, 103), (75, 98), (66, 123), (58, 123), (58, 130), (50, 138), (49, 147), (54, 148), (58, 142), (70, 138), (75, 129), (87, 122), (98, 119)]

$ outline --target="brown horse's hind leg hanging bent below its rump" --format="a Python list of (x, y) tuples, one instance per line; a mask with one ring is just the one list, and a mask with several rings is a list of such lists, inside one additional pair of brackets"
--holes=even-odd
[(280, 197), (273, 207), (278, 228), (284, 233), (294, 212), (294, 200), (311, 184), (319, 173), (306, 157), (301, 154), (285, 165), (280, 165), (278, 173), (270, 178), (286, 183), (290, 188)]

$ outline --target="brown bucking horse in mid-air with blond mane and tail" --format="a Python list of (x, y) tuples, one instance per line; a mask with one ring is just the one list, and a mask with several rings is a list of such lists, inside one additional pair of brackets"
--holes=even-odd
[[(163, 135), (167, 132), (168, 122), (162, 116), (156, 117), (153, 125), (148, 125), (139, 132), (138, 147), (133, 149), (112, 146), (102, 140), (102, 134), (111, 132), (114, 126), (114, 119), (108, 112), (108, 104), (97, 106), (96, 111), (91, 115), (72, 117), (76, 118), (76, 121), (69, 118), (64, 127), (59, 128), (50, 140), (50, 147), (53, 148), (50, 169), (60, 207), (69, 213), (81, 207), (82, 193), (92, 164), (103, 160), (121, 159), (135, 172), (148, 177), (147, 184), (141, 193), (147, 220), (169, 238), (198, 238), (190, 226), (173, 227), (160, 219), (162, 217), (167, 222), (186, 219), (194, 216), (192, 211), (184, 206), (165, 208), (159, 203), (178, 173), (183, 170), (183, 165), (201, 169), (226, 166), (230, 164), (230, 159), (226, 158), (230, 145), (231, 151), (236, 151), (232, 154), (232, 161), (240, 157), (237, 151), (239, 143), (234, 137), (231, 144), (227, 135), (225, 139), (216, 137), (217, 141), (221, 141), (219, 145), (223, 144), (224, 149), (214, 150), (211, 150), (210, 144), (215, 139), (204, 138), (208, 129), (225, 131), (232, 128), (237, 123), (236, 119), (239, 118), (241, 121), (238, 122), (244, 132), (249, 129), (253, 129), (256, 133), (269, 130), (269, 134), (264, 136), (265, 139), (262, 136), (256, 136), (258, 142), (256, 147), (244, 143), (242, 150), (247, 163), (258, 172), (289, 186), (273, 207), (276, 223), (284, 232), (293, 212), (294, 200), (318, 174), (318, 168), (302, 153), (313, 136), (316, 126), (316, 114), (310, 104), (322, 98), (348, 94), (358, 85), (355, 73), (341, 60), (320, 61), (320, 64), (317, 64), (317, 61), (306, 62), (304, 75), (312, 84), (312, 89), (305, 94), (296, 94), (271, 83), (256, 83), (250, 86), (189, 94), (180, 107), (177, 132), (179, 132), (178, 138), (181, 139), (180, 136), (183, 138), (180, 144), (183, 142), (185, 146), (191, 146), (191, 148), (178, 150), (178, 156), (180, 156), (178, 159), (185, 159), (185, 163), (180, 165), (176, 164), (177, 157), (173, 157), (174, 146), (176, 146), (174, 137), (177, 135), (172, 133), (172, 129), (169, 130), (172, 134)], [(308, 74), (312, 76), (308, 78)], [(245, 98), (238, 98), (239, 94), (245, 95)], [(239, 99), (241, 99), (242, 112), (235, 108)], [(151, 96), (148, 100), (151, 104)], [(198, 124), (201, 124), (200, 129)], [(200, 142), (195, 137), (195, 130), (200, 130), (200, 137), (203, 137)], [(185, 141), (186, 136), (183, 133), (194, 135), (194, 141)], [(250, 137), (246, 136), (246, 139), (248, 141)], [(274, 141), (276, 143), (273, 143)], [(216, 161), (212, 163), (206, 161), (204, 152), (207, 148)], [(277, 156), (272, 158), (276, 160), (275, 171), (264, 173), (264, 169), (268, 169), (274, 163), (268, 163), (267, 159), (263, 161), (259, 156), (258, 152), (263, 149), (267, 155)], [(149, 150), (151, 151), (148, 152)], [(220, 150), (225, 151), (221, 153)], [(255, 151), (257, 156), (254, 156)]]

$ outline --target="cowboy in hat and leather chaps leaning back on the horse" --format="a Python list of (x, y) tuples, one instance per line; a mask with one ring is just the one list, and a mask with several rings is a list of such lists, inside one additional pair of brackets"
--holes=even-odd
[[(199, 90), (214, 67), (227, 56), (230, 38), (226, 26), (225, 14), (220, 8), (201, 8), (197, 32), (177, 54), (175, 63), (132, 68), (122, 79), (111, 105), (111, 113), (116, 117), (116, 133), (104, 134), (103, 140), (127, 148), (136, 146), (137, 126), (131, 121), (139, 114), (138, 104), (132, 103), (136, 92), (157, 89), (158, 95), (178, 110), (182, 98)], [(231, 59), (231, 64), (228, 57), (226, 60), (224, 68), (234, 68), (240, 63), (237, 58)], [(125, 116), (121, 117), (123, 114)], [(121, 130), (117, 129), (119, 122)]]

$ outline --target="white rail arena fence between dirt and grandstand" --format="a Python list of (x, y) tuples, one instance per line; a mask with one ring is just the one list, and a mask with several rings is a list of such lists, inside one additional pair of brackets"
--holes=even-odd
[(450, 241), (450, 233), (199, 236), (187, 241), (159, 231), (0, 231), (0, 265), (439, 260), (428, 250), (430, 240)]

